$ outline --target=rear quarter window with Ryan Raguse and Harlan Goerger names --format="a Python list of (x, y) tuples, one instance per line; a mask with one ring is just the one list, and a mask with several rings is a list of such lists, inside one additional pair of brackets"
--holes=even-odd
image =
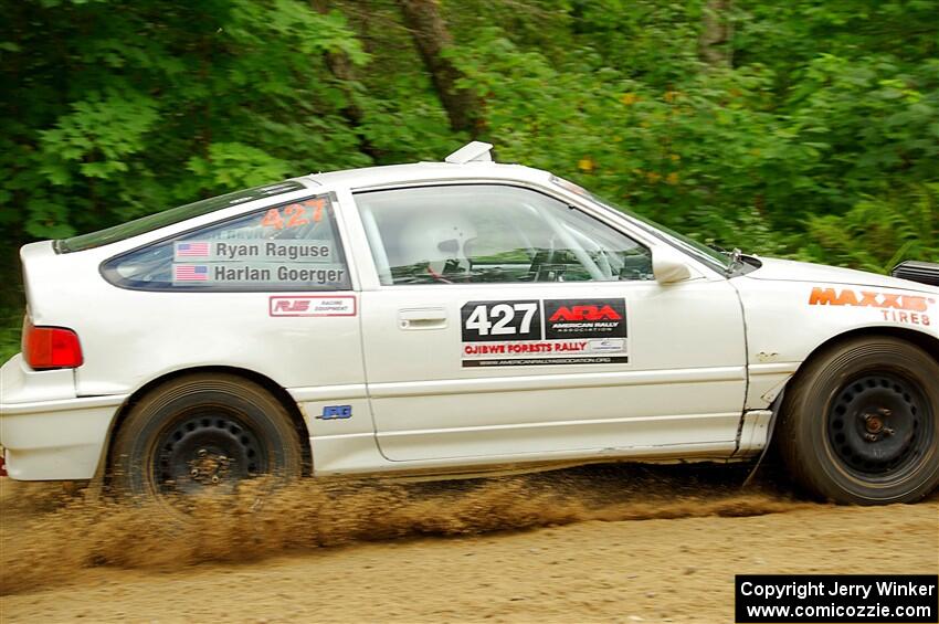
[(333, 202), (252, 212), (107, 261), (106, 279), (144, 290), (344, 290), (349, 272)]

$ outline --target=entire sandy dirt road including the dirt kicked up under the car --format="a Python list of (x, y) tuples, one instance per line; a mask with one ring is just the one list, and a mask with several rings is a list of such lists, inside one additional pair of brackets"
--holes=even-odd
[(832, 507), (785, 486), (741, 494), (739, 476), (310, 482), (182, 528), (4, 482), (0, 620), (729, 622), (735, 573), (939, 571), (939, 493)]

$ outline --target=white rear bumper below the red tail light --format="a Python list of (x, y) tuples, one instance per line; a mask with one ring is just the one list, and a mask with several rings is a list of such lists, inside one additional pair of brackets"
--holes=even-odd
[(13, 357), (0, 369), (0, 446), (8, 475), (20, 480), (92, 478), (125, 399), (76, 398), (73, 371), (33, 371)]

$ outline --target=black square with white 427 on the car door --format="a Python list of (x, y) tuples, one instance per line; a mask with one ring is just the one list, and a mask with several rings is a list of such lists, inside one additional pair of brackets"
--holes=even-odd
[(460, 311), (464, 342), (541, 338), (541, 313), (537, 299), (470, 302)]

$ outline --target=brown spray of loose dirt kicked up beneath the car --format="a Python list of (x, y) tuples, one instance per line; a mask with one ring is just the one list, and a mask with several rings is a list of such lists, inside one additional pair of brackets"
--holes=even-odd
[(253, 483), (200, 499), (187, 520), (155, 503), (0, 479), (0, 595), (101, 565), (178, 569), (361, 541), (814, 506), (771, 483), (741, 490), (743, 476), (732, 466), (606, 465), (440, 483), (304, 479), (264, 497)]

